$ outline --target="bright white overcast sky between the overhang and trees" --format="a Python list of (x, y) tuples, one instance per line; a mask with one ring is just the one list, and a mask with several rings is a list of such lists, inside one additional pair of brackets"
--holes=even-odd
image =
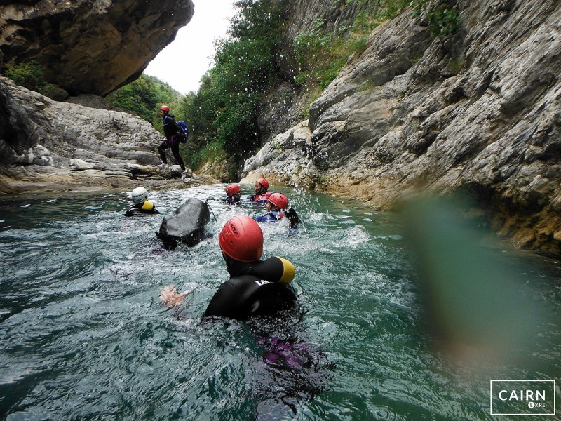
[(194, 0), (195, 14), (175, 40), (144, 70), (180, 93), (198, 91), (201, 76), (210, 68), (214, 41), (226, 34), (234, 15), (232, 0)]

